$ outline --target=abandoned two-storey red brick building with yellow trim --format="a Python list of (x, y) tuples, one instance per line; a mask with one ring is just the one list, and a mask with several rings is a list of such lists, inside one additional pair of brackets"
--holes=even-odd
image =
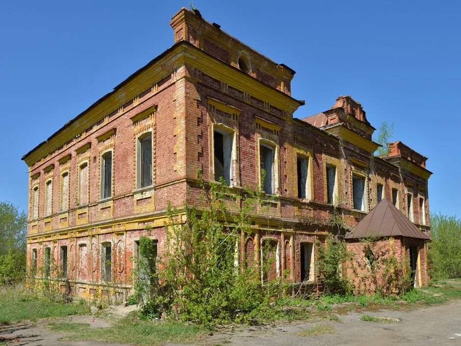
[[(23, 157), (29, 268), (45, 266), (42, 274), (52, 278), (55, 263), (77, 295), (97, 294), (105, 282), (128, 275), (142, 235), (156, 240), (161, 253), (167, 203), (180, 210), (197, 202), (198, 170), (238, 190), (256, 186), (263, 168), (270, 207), (258, 212), (252, 238), (242, 237), (239, 258), (258, 266), (270, 241), (277, 249), (273, 276), (315, 282), (313, 244), (333, 232), (333, 206), (354, 227), (385, 201), (408, 218), (413, 233), (386, 232), (381, 245), (399, 259), (408, 256), (415, 285), (427, 284), (427, 158), (402, 142), (375, 157), (375, 128), (349, 96), (294, 118), (304, 104), (291, 97), (295, 71), (198, 11), (182, 8), (170, 25), (172, 47)], [(399, 223), (394, 209), (389, 213)], [(379, 211), (368, 225), (385, 218)], [(358, 241), (364, 233), (354, 230), (347, 241), (365, 263)]]

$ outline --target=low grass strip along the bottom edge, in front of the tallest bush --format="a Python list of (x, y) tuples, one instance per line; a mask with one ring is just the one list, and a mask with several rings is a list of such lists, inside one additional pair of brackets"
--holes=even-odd
[(88, 323), (50, 323), (52, 332), (66, 334), (70, 341), (103, 341), (134, 345), (161, 345), (168, 341), (185, 342), (206, 334), (206, 330), (181, 322), (152, 322), (136, 319), (135, 314), (105, 328), (93, 328)]

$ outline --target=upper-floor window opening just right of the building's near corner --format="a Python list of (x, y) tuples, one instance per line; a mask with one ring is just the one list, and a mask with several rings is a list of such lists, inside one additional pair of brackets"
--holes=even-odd
[(230, 186), (232, 180), (232, 134), (227, 131), (213, 131), (214, 180), (221, 178)]

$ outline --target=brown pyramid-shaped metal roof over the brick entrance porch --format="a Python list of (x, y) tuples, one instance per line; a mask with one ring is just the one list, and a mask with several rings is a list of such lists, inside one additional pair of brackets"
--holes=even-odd
[(346, 234), (346, 239), (367, 237), (409, 237), (431, 239), (394, 205), (383, 198), (354, 228)]

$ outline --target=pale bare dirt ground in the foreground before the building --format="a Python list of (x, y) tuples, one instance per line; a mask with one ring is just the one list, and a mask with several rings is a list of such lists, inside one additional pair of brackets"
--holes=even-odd
[[(382, 323), (359, 320), (361, 315), (384, 316), (400, 319), (400, 322)], [(339, 315), (340, 322), (329, 319), (313, 319), (309, 322), (292, 322), (265, 327), (234, 328), (216, 332), (200, 341), (197, 346), (205, 345), (242, 345), (242, 346), (387, 346), (387, 345), (461, 345), (461, 300), (444, 305), (427, 306), (413, 311), (349, 312)], [(76, 316), (60, 319), (72, 322), (90, 323), (93, 327), (108, 326), (103, 319), (92, 316)], [(102, 346), (103, 342), (70, 342), (59, 340), (63, 334), (54, 334), (44, 325), (21, 323), (0, 328), (0, 336), (14, 339), (12, 346)], [(332, 333), (317, 336), (301, 336), (303, 330), (318, 324), (331, 324)], [(111, 344), (120, 345), (121, 344)], [(168, 343), (168, 346), (182, 346)]]

